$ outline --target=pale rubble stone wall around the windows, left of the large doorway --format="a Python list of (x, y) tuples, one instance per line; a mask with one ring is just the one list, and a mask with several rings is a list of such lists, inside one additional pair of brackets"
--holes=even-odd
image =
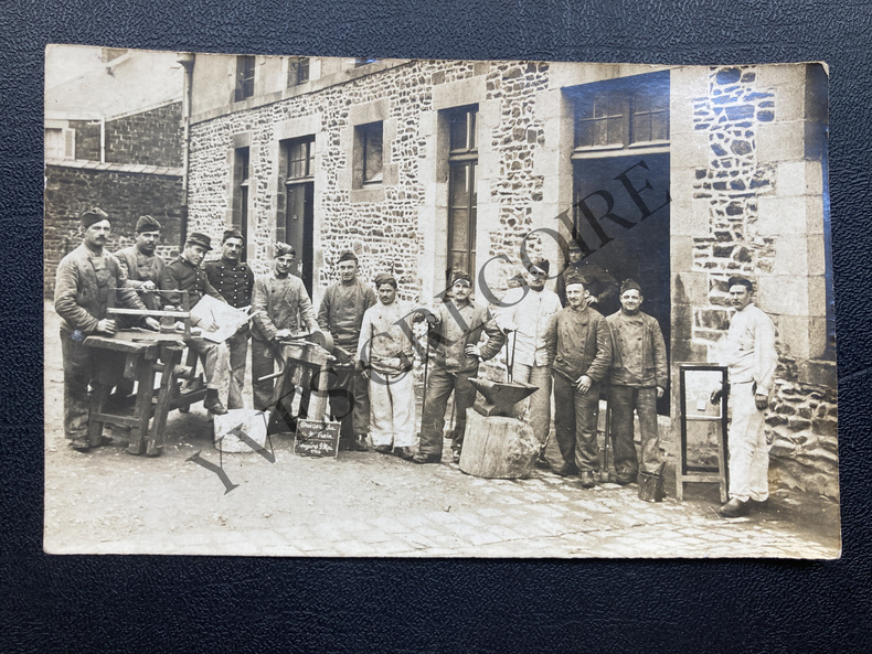
[[(438, 293), (443, 289), (425, 283), (419, 270), (424, 232), (430, 227), (422, 224), (419, 215), (425, 204), (438, 204), (428, 197), (432, 191), (422, 174), (423, 162), (436, 148), (434, 127), (423, 120), (433, 114), (434, 86), (470, 79), (480, 93), (458, 97), (456, 106), (482, 97), (499, 106), (492, 129), (479, 132), (480, 141), (488, 142), (480, 143), (478, 229), (488, 234), (490, 256), (507, 254), (517, 262), (520, 243), (534, 227), (535, 207), (542, 200), (543, 180), (532, 170), (536, 149), (544, 141), (534, 104), (536, 93), (546, 86), (547, 64), (415, 61), (317, 94), (196, 122), (191, 131), (189, 228), (213, 237), (221, 234), (231, 208), (233, 139), (249, 133), (252, 178), (257, 180), (249, 207), (249, 260), (256, 271), (265, 271), (284, 210), (277, 176), (278, 142), (285, 136), (279, 132), (295, 121), (310, 125), (315, 116), (316, 287), (336, 280), (334, 262), (343, 249), (351, 248), (360, 257), (364, 279), (393, 270), (402, 297), (418, 299), (425, 287), (428, 293)], [(351, 140), (353, 127), (371, 119), (384, 121), (385, 178), (380, 189), (361, 193), (351, 187)], [(489, 161), (485, 151), (492, 152)], [(500, 276), (502, 288), (513, 275)]]

